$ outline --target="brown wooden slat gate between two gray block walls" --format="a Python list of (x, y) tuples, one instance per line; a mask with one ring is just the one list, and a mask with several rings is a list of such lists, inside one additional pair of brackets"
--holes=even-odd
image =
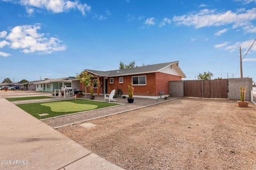
[(227, 99), (228, 79), (184, 80), (184, 96)]

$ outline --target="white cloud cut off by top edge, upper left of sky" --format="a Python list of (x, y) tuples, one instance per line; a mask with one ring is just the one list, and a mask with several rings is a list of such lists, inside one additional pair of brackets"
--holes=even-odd
[[(9, 1), (17, 3), (15, 0)], [(32, 15), (34, 8), (45, 9), (52, 13), (68, 12), (70, 9), (77, 9), (83, 16), (91, 10), (90, 6), (86, 3), (81, 4), (78, 0), (74, 2), (70, 0), (20, 0), (19, 3), (26, 7), (26, 12), (29, 15)]]

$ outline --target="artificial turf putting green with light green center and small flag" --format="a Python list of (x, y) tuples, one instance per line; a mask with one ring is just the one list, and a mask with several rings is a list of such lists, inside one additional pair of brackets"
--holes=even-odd
[[(60, 115), (67, 115), (71, 113), (77, 113), (81, 111), (88, 111), (117, 105), (119, 104), (83, 99), (77, 99), (75, 104), (75, 100), (73, 99), (56, 102), (17, 104), (16, 106), (20, 107), (21, 109), (23, 109), (24, 111), (38, 119), (44, 119), (48, 117), (56, 117)], [(48, 113), (49, 115), (38, 115), (42, 113)]]

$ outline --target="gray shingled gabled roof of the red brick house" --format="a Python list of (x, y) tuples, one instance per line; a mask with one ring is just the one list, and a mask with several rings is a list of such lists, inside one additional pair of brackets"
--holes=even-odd
[[(160, 63), (160, 64), (152, 64), (152, 65), (139, 66), (139, 67), (133, 67), (133, 68), (125, 68), (125, 69), (119, 69), (119, 70), (111, 70), (111, 71), (97, 71), (97, 70), (87, 70), (87, 69), (84, 71), (90, 72), (96, 76), (113, 77), (113, 76), (124, 76), (124, 75), (151, 73), (151, 72), (160, 72), (164, 68), (167, 68), (168, 66), (171, 66), (173, 64), (176, 64), (178, 71), (181, 74), (180, 76), (182, 78), (185, 78), (186, 75), (184, 74), (184, 72), (182, 72), (182, 70), (178, 66), (179, 61)], [(84, 72), (84, 71), (82, 71), (82, 72)]]

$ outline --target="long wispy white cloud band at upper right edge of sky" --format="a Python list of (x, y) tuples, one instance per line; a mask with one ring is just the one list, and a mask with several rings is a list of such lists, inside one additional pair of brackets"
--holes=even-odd
[(174, 16), (173, 21), (177, 25), (194, 26), (196, 29), (210, 26), (220, 26), (232, 24), (232, 28), (245, 27), (248, 25), (248, 20), (255, 20), (256, 13), (253, 12), (256, 8), (251, 10), (238, 10), (232, 12), (217, 12), (216, 10), (204, 9), (198, 13), (191, 13), (183, 16)]

